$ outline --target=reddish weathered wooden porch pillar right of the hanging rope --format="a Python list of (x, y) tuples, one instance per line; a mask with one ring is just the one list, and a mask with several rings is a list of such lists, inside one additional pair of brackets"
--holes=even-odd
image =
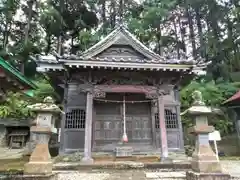
[(158, 115), (159, 115), (159, 125), (161, 134), (161, 161), (168, 158), (168, 144), (167, 144), (167, 130), (165, 124), (165, 110), (163, 95), (158, 95)]

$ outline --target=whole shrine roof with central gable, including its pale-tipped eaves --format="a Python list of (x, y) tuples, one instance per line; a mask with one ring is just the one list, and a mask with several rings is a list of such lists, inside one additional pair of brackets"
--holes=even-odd
[[(123, 47), (130, 48), (137, 55), (124, 54), (125, 49)], [(107, 50), (110, 50), (110, 52), (106, 54)], [(112, 52), (116, 54), (112, 54)], [(201, 71), (207, 65), (202, 60), (197, 64), (193, 59), (174, 59), (160, 56), (141, 43), (123, 25), (116, 27), (105, 38), (80, 54), (64, 54), (60, 56), (55, 53), (47, 56), (39, 55), (33, 59), (38, 64), (37, 70), (39, 72), (61, 71), (64, 70), (65, 66), (75, 68)]]

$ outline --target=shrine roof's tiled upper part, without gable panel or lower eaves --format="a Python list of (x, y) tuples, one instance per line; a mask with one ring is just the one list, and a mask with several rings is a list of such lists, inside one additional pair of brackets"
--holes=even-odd
[[(124, 44), (133, 47), (140, 54), (143, 54), (145, 59), (126, 58), (126, 57), (95, 57), (105, 49), (114, 44)], [(59, 59), (59, 61), (57, 60)], [(47, 56), (38, 56), (38, 62), (46, 62), (50, 64), (58, 64), (59, 62), (68, 62), (68, 60), (78, 61), (106, 61), (106, 62), (138, 62), (138, 63), (161, 63), (161, 64), (194, 64), (193, 60), (165, 58), (160, 56), (141, 43), (133, 34), (131, 34), (123, 25), (115, 28), (109, 35), (101, 41), (90, 47), (88, 50), (75, 55), (64, 54), (62, 56), (55, 54)]]

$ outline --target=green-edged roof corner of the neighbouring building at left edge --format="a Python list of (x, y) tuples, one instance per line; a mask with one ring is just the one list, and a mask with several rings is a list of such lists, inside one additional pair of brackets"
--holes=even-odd
[(36, 85), (0, 57), (0, 99), (4, 99), (9, 91), (24, 92), (32, 89), (36, 89)]

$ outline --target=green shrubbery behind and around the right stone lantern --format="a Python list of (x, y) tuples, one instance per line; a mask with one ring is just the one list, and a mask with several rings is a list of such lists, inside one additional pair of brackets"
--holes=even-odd
[[(189, 108), (192, 104), (191, 94), (193, 91), (199, 90), (202, 92), (204, 102), (207, 106), (221, 109), (221, 115), (214, 115), (209, 118), (209, 123), (221, 132), (221, 134), (228, 134), (233, 131), (234, 124), (232, 119), (228, 116), (228, 110), (221, 106), (222, 103), (231, 97), (238, 87), (229, 82), (205, 82), (204, 80), (192, 81), (188, 86), (181, 90), (181, 103), (182, 110)], [(185, 127), (193, 126), (193, 120), (190, 117), (182, 117), (182, 122)]]

